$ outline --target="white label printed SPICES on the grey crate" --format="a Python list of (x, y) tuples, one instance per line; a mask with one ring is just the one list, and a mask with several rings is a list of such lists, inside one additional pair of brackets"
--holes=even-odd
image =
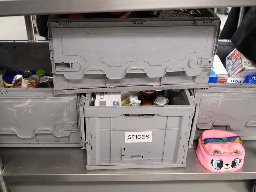
[(152, 142), (152, 131), (125, 132), (125, 143), (148, 143)]

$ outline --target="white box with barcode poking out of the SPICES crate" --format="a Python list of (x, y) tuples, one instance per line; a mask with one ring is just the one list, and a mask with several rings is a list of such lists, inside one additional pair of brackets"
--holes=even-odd
[(95, 106), (121, 106), (121, 92), (96, 93)]

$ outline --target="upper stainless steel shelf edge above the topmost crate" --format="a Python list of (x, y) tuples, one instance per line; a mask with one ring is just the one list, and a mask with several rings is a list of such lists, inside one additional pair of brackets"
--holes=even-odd
[(255, 0), (0, 0), (0, 16), (256, 6)]

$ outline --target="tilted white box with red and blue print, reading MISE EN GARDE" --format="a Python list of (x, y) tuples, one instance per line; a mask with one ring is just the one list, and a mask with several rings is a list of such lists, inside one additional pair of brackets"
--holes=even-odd
[(256, 63), (234, 49), (226, 57), (226, 70), (229, 77), (245, 78), (247, 75), (256, 74)]

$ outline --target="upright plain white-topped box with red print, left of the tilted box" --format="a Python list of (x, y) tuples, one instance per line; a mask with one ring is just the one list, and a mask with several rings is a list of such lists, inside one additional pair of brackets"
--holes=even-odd
[(214, 56), (212, 70), (218, 76), (218, 83), (227, 83), (228, 72), (226, 71), (218, 55)]

